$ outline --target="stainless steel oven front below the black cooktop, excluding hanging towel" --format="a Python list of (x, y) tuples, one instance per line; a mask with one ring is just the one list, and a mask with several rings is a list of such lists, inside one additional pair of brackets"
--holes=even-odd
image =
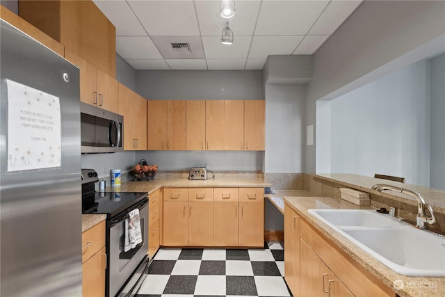
[[(142, 243), (124, 252), (125, 220), (129, 211), (139, 209)], [(148, 200), (142, 200), (125, 213), (108, 220), (108, 266), (106, 296), (115, 296), (127, 282), (148, 252)]]

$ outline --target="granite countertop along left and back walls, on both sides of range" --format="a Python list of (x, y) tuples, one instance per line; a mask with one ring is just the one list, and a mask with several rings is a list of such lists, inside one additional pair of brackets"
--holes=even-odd
[[(140, 182), (123, 182), (118, 189), (120, 192), (147, 192), (148, 195), (162, 187), (235, 187), (235, 188), (264, 188), (271, 186), (270, 183), (264, 182), (264, 179), (207, 179), (207, 180), (189, 180), (187, 178), (166, 178), (152, 179)], [(116, 188), (108, 187), (106, 191), (116, 191)], [(82, 215), (82, 232), (90, 229), (106, 219), (104, 214), (83, 214)]]

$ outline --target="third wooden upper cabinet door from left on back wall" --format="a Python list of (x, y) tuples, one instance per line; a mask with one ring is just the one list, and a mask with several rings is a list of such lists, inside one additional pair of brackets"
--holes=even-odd
[(186, 150), (206, 149), (206, 102), (186, 102)]

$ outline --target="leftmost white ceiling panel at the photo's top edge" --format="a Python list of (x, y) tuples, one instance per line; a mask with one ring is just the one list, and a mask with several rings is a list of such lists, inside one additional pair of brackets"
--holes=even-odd
[(133, 14), (127, 1), (94, 0), (96, 6), (116, 27), (117, 36), (146, 36), (138, 19)]

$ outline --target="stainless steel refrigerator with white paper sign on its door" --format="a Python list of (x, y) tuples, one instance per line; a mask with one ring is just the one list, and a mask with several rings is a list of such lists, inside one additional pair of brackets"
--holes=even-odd
[(0, 295), (81, 296), (79, 69), (1, 20)]

